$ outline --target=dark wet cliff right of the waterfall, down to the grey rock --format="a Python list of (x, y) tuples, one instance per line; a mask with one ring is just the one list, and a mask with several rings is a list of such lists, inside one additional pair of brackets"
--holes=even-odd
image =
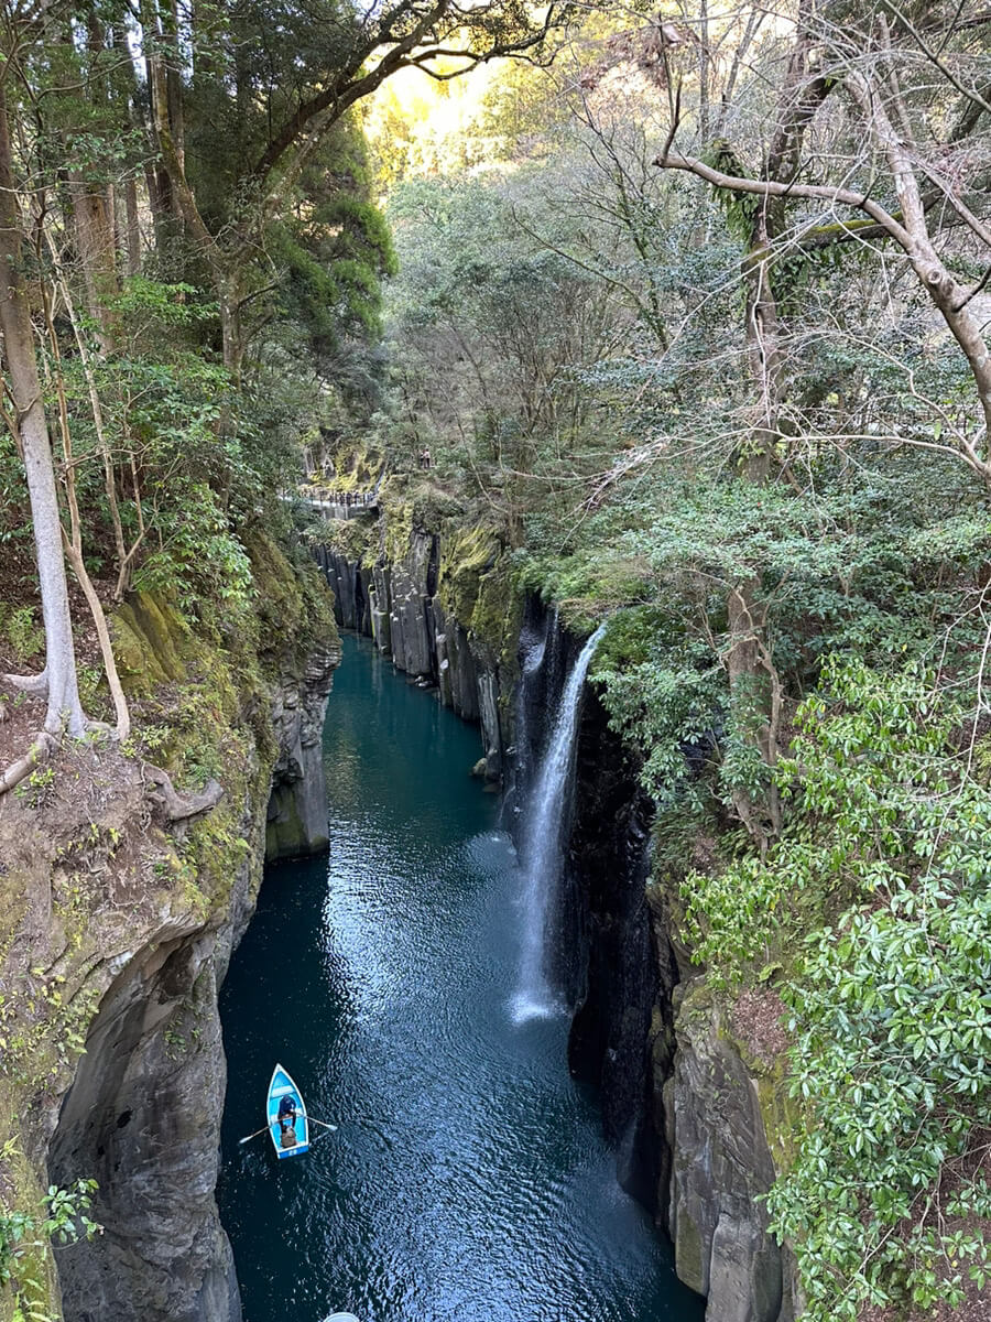
[[(540, 664), (563, 672), (552, 653), (566, 645), (547, 649)], [(653, 805), (637, 773), (587, 691), (563, 883), (569, 1064), (600, 1088), (618, 1179), (670, 1233), (708, 1322), (790, 1322), (789, 1264), (758, 1202), (774, 1178), (761, 1109), (773, 1085), (673, 944), (649, 883)]]

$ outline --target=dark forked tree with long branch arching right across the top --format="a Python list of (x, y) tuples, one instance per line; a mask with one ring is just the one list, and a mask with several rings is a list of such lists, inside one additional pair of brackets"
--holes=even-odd
[[(419, 67), (447, 81), (495, 58), (548, 59), (552, 36), (577, 13), (576, 5), (554, 3), (535, 13), (519, 0), (402, 0), (366, 11), (337, 3), (305, 12), (291, 4), (222, 9), (210, 58), (230, 77), (211, 82), (207, 111), (214, 151), (226, 155), (221, 198), (215, 178), (211, 188), (188, 167), (182, 143), (188, 116), (178, 70), (186, 49), (202, 50), (196, 15), (180, 32), (155, 0), (145, 0), (141, 44), (155, 140), (186, 238), (209, 270), (223, 361), (235, 382), (250, 338), (246, 316), (264, 270), (258, 258), (267, 229), (326, 132), (402, 69)], [(190, 95), (192, 104), (196, 81)], [(201, 132), (203, 127), (201, 122)]]

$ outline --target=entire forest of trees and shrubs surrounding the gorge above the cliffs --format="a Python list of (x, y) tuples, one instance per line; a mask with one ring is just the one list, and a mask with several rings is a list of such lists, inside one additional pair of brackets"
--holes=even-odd
[(239, 531), (342, 446), (484, 524), (610, 616), (593, 678), (683, 933), (788, 1006), (769, 1207), (805, 1315), (973, 1305), (991, 12), (108, 0), (0, 38), (0, 627), (32, 661), (40, 588), (36, 755), (87, 726), (65, 562), (124, 738), (104, 609), (152, 586), (247, 627)]

